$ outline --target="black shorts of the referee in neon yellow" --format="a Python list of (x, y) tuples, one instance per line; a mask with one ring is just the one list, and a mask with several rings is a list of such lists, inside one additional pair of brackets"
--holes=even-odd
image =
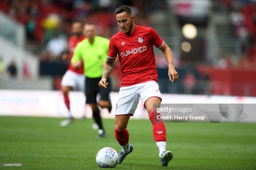
[(100, 94), (100, 100), (109, 100), (109, 93), (111, 91), (111, 82), (108, 78), (106, 83), (107, 88), (100, 88), (99, 82), (101, 78), (89, 78), (85, 79), (85, 96), (86, 96), (86, 104), (97, 104), (97, 94)]

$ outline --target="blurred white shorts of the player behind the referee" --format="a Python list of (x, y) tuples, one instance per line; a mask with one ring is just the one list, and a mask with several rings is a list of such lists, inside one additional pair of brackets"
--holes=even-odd
[(71, 70), (66, 71), (61, 80), (61, 86), (69, 86), (84, 91), (85, 76)]

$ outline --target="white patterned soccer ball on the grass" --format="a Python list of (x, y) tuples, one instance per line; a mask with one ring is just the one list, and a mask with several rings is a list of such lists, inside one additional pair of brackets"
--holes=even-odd
[(117, 152), (113, 148), (102, 148), (96, 155), (96, 162), (102, 168), (113, 168), (118, 161)]

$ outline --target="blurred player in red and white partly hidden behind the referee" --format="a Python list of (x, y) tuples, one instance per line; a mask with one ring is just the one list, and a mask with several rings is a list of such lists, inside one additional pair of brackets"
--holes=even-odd
[[(82, 40), (84, 40), (85, 36), (83, 35), (83, 22), (82, 21), (74, 21), (72, 23), (72, 35), (69, 38), (69, 53), (71, 60), (73, 57), (74, 49), (77, 46), (78, 43), (80, 43)], [(63, 55), (62, 58), (64, 60), (67, 60), (67, 55)], [(62, 81), (61, 81), (61, 91), (64, 96), (64, 101), (68, 109), (68, 117), (67, 119), (60, 122), (61, 126), (67, 126), (72, 121), (74, 121), (74, 118), (71, 115), (70, 112), (70, 100), (68, 97), (68, 93), (73, 88), (77, 87), (79, 90), (84, 91), (84, 74), (83, 74), (83, 68), (73, 68), (71, 66), (71, 62), (69, 63), (68, 70), (64, 74)]]

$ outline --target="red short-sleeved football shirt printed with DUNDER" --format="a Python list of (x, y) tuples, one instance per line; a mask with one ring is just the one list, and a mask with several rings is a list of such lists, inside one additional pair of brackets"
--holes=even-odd
[(122, 87), (147, 81), (157, 82), (153, 45), (160, 48), (163, 43), (154, 29), (138, 25), (135, 25), (132, 34), (120, 31), (111, 37), (108, 57), (116, 58), (118, 54), (123, 73)]

